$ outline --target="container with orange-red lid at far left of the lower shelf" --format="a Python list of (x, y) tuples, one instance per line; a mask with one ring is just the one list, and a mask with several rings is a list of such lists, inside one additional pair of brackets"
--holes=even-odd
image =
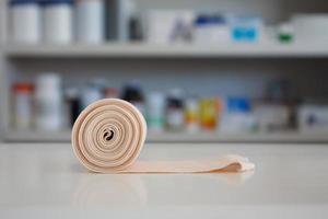
[(31, 83), (15, 83), (13, 91), (13, 125), (16, 129), (31, 129), (33, 124), (33, 92)]

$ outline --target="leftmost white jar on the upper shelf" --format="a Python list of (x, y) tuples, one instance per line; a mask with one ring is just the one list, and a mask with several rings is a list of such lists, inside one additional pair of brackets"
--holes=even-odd
[(40, 8), (37, 0), (12, 0), (11, 37), (19, 44), (37, 44), (40, 41)]

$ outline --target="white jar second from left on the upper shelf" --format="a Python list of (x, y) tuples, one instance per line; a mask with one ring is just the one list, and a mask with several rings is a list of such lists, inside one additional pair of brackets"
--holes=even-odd
[(73, 41), (73, 5), (71, 0), (48, 0), (43, 3), (44, 42), (70, 44)]

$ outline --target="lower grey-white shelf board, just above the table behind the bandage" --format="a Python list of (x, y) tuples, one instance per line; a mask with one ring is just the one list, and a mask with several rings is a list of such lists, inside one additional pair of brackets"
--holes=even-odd
[[(9, 131), (5, 135), (8, 142), (69, 142), (70, 131), (61, 132), (36, 132), (36, 131)], [(148, 142), (295, 142), (295, 143), (327, 143), (328, 136), (325, 134), (185, 134), (185, 132), (150, 132)]]

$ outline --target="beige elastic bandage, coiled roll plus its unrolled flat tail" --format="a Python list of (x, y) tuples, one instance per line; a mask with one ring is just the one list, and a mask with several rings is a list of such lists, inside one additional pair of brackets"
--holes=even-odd
[(255, 168), (239, 155), (199, 161), (137, 161), (145, 136), (145, 120), (133, 105), (105, 99), (80, 114), (72, 130), (72, 146), (80, 162), (98, 173), (242, 172)]

